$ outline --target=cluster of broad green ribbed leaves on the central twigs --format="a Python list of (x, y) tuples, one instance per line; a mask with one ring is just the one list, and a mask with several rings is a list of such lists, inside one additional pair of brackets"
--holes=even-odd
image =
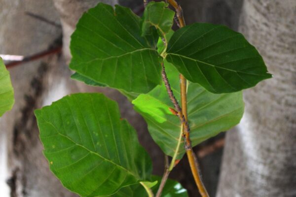
[[(70, 46), (72, 78), (119, 90), (173, 160), (181, 159), (185, 149), (181, 123), (161, 84), (162, 64), (178, 100), (179, 74), (189, 80), (193, 146), (238, 124), (244, 111), (241, 90), (271, 77), (242, 34), (205, 23), (174, 32), (174, 15), (163, 1), (148, 3), (142, 18), (129, 8), (99, 3), (80, 18)], [(69, 190), (82, 197), (144, 197), (149, 188), (156, 192), (161, 178), (151, 176), (148, 153), (114, 101), (102, 94), (74, 94), (35, 114), (50, 169)], [(163, 197), (175, 196), (187, 193), (168, 180)]]

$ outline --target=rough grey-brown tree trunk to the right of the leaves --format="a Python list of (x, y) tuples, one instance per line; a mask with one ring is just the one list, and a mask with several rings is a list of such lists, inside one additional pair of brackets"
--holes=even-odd
[(240, 31), (272, 79), (245, 91), (245, 114), (226, 134), (218, 197), (296, 196), (296, 1), (245, 0)]

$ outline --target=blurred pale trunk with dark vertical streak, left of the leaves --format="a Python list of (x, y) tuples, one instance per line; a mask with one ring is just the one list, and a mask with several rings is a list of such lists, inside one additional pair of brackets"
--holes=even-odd
[[(68, 2), (69, 5), (75, 3), (75, 6), (68, 6), (63, 12), (66, 16), (71, 15), (73, 23), (72, 30), (63, 27), (65, 49), (69, 48), (67, 40), (75, 20), (99, 0), (92, 2)], [(0, 0), (0, 4), (0, 54), (27, 56), (61, 45), (59, 14), (51, 0)], [(69, 60), (69, 53), (66, 57)], [(0, 196), (77, 197), (49, 171), (42, 154), (34, 110), (72, 92), (90, 89), (82, 85), (78, 87), (70, 79), (71, 72), (60, 54), (13, 67), (10, 74), (15, 105), (0, 119)]]

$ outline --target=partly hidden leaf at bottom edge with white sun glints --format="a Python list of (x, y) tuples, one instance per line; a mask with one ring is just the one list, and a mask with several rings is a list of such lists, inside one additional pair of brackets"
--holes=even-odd
[[(157, 185), (152, 187), (153, 193), (156, 194), (161, 182), (161, 177), (152, 176), (152, 181), (157, 181)], [(111, 197), (148, 197), (148, 195), (141, 184), (136, 184), (120, 189)], [(188, 194), (180, 183), (168, 179), (163, 188), (161, 197), (188, 197)]]

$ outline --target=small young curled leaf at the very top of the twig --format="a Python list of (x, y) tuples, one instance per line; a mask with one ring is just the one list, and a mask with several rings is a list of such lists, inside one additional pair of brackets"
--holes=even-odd
[(160, 36), (166, 39), (166, 34), (171, 31), (173, 26), (174, 16), (175, 12), (168, 8), (168, 3), (164, 1), (149, 2), (143, 14), (143, 34), (150, 31), (150, 26), (154, 26)]

